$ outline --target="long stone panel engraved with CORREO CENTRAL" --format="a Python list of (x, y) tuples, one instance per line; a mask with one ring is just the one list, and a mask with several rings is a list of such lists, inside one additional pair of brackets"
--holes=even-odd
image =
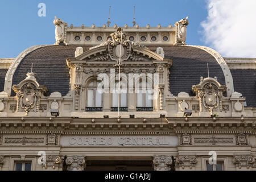
[(143, 137), (143, 136), (117, 136), (117, 137), (90, 137), (61, 136), (62, 146), (177, 146), (178, 138), (175, 136)]

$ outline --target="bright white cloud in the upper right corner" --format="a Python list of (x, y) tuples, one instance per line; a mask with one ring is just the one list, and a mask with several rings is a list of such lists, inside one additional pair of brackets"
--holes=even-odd
[(224, 57), (256, 57), (256, 0), (208, 0), (204, 41)]

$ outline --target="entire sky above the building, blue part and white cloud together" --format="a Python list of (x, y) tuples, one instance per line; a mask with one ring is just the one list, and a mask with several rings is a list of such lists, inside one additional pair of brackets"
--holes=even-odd
[[(46, 4), (46, 17), (38, 16), (39, 3)], [(103, 26), (109, 6), (110, 26), (132, 26), (133, 6), (141, 27), (174, 26), (189, 16), (187, 44), (209, 46), (223, 56), (256, 57), (256, 26), (251, 23), (256, 16), (255, 0), (1, 0), (0, 57), (16, 57), (28, 47), (55, 43), (54, 16), (69, 26)], [(246, 33), (240, 30), (242, 24), (250, 25)]]

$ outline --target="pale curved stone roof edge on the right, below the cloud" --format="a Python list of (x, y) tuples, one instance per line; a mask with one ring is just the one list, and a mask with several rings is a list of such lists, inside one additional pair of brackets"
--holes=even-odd
[(208, 52), (210, 55), (212, 55), (216, 59), (218, 64), (220, 64), (222, 72), (224, 73), (224, 76), (225, 76), (225, 84), (226, 84), (226, 87), (227, 87), (226, 94), (227, 94), (228, 97), (230, 97), (231, 94), (234, 92), (233, 77), (232, 77), (232, 74), (231, 74), (230, 69), (228, 67), (228, 64), (226, 64), (226, 61), (220, 55), (220, 53), (218, 53), (216, 50), (214, 50), (212, 48), (209, 48), (209, 47), (206, 47), (206, 46), (193, 46), (193, 45), (184, 45), (184, 46), (196, 47), (196, 48), (202, 49), (202, 50)]

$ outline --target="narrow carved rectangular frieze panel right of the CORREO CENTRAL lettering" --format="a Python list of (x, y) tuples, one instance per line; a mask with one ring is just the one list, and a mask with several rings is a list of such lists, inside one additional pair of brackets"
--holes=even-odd
[(212, 143), (225, 143), (225, 144), (234, 144), (233, 137), (195, 137), (194, 139), (195, 144), (207, 144)]

